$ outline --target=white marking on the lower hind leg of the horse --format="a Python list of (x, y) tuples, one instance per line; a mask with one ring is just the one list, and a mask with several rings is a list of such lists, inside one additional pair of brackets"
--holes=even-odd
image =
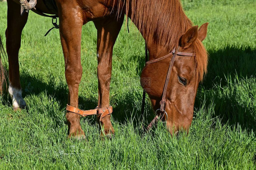
[(25, 106), (26, 102), (24, 101), (24, 99), (21, 96), (21, 89), (18, 88), (14, 88), (12, 86), (12, 84), (9, 84), (9, 88), (8, 88), (9, 94), (13, 100), (13, 107), (20, 107), (20, 106)]

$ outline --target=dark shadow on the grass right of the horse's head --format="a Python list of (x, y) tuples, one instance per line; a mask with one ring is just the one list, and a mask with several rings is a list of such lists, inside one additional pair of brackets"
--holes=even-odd
[[(205, 80), (200, 84), (199, 94), (196, 97), (195, 107), (200, 107), (204, 98), (206, 106), (210, 106), (212, 101), (215, 104), (215, 114), (222, 119), (222, 123), (229, 123), (233, 127), (240, 125), (244, 130), (256, 130), (256, 108), (250, 104), (255, 96), (248, 98), (250, 103), (241, 103), (241, 90), (237, 86), (231, 85), (229, 81), (245, 80), (247, 77), (256, 76), (256, 52), (250, 47), (236, 48), (232, 46), (224, 47), (222, 50), (209, 51), (208, 73)], [(222, 87), (230, 86), (225, 91)], [(232, 87), (231, 87), (232, 86)], [(200, 92), (201, 91), (201, 92)], [(246, 99), (245, 99), (246, 101)]]

